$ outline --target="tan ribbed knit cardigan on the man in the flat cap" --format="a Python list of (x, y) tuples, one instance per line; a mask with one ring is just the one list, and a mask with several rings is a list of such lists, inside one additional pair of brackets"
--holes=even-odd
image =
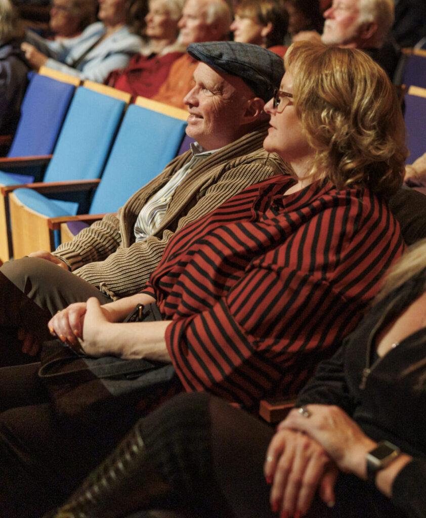
[(107, 214), (54, 253), (64, 257), (76, 275), (112, 298), (140, 291), (179, 228), (201, 218), (246, 186), (288, 172), (278, 155), (262, 149), (267, 127), (262, 125), (191, 169), (175, 190), (154, 235), (135, 242), (133, 227), (139, 211), (190, 160), (191, 151), (176, 157), (159, 176), (139, 189), (119, 209), (117, 217)]

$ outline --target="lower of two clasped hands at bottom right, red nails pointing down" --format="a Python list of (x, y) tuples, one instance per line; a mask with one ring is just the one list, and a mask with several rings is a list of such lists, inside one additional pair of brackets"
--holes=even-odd
[(264, 473), (272, 482), (272, 510), (281, 516), (305, 514), (317, 490), (324, 502), (334, 503), (337, 468), (318, 442), (299, 431), (277, 431), (269, 443)]

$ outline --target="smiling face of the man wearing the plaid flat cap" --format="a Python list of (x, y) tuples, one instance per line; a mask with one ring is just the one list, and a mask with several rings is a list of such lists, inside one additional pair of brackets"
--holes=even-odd
[(187, 134), (208, 151), (226, 146), (239, 137), (247, 99), (252, 97), (242, 79), (198, 63), (194, 86), (183, 99), (189, 111)]

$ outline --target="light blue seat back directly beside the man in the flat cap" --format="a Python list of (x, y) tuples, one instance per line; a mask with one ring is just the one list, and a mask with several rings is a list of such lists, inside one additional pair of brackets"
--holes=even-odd
[(91, 214), (116, 212), (176, 156), (186, 121), (131, 105), (96, 189)]

